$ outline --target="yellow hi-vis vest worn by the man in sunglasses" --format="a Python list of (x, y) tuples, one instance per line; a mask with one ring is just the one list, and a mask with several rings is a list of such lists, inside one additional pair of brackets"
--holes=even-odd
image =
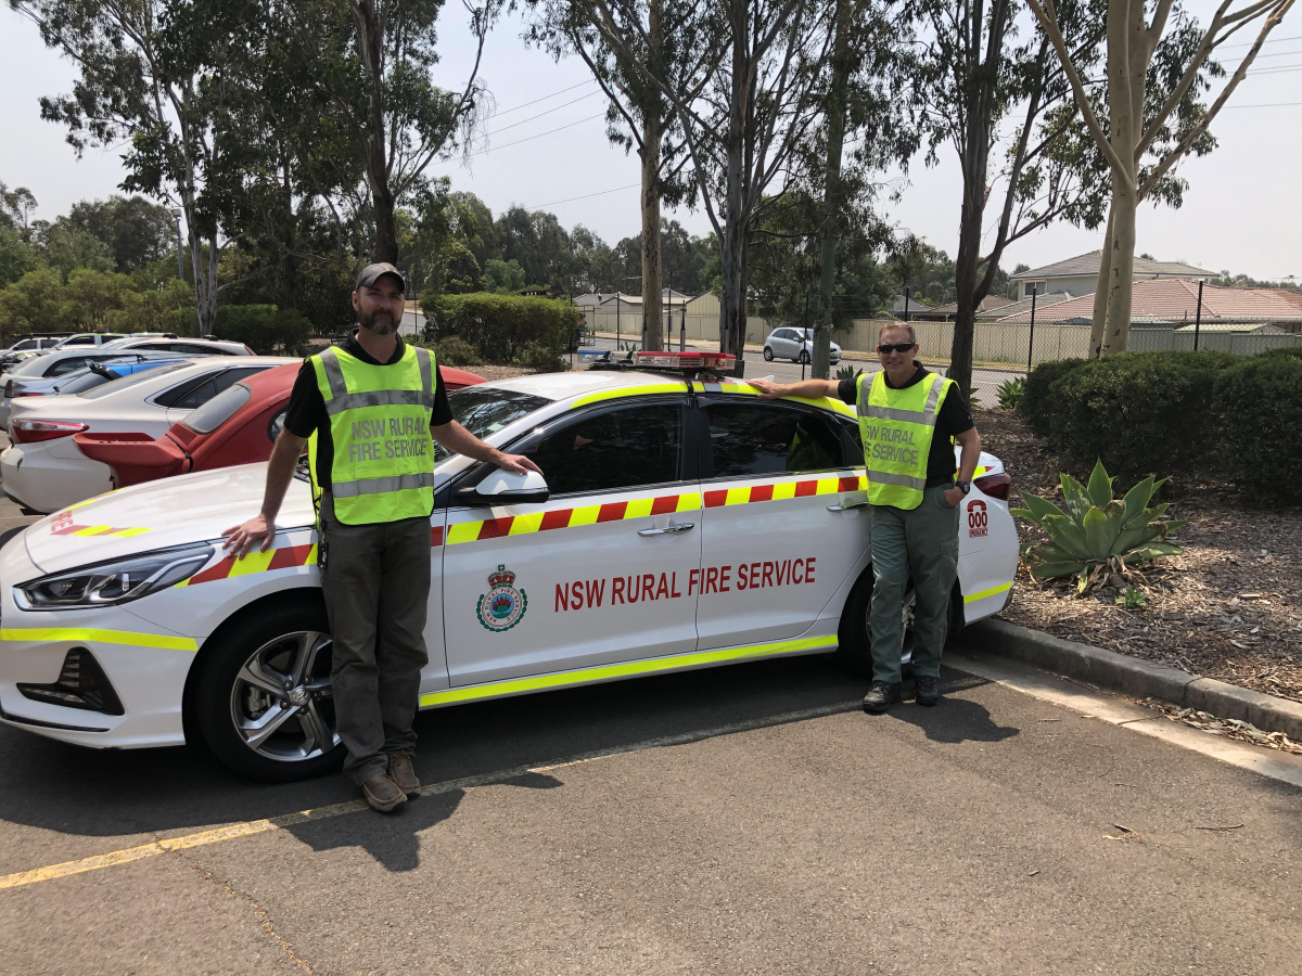
[(868, 470), (868, 504), (915, 509), (927, 487), (927, 455), (940, 405), (954, 381), (930, 372), (911, 386), (892, 389), (881, 371), (872, 376), (865, 396), (866, 379), (859, 373), (855, 409)]

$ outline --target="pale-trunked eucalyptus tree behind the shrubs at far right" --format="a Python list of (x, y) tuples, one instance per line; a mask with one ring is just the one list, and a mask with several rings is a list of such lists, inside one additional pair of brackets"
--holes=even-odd
[[(1026, 0), (1053, 46), (1072, 86), (1086, 130), (1107, 160), (1111, 207), (1095, 289), (1091, 353), (1125, 351), (1130, 337), (1134, 281), (1135, 211), (1148, 198), (1178, 202), (1182, 181), (1176, 164), (1189, 152), (1215, 146), (1210, 126), (1247, 74), (1262, 44), (1293, 7), (1293, 0), (1223, 0), (1206, 30), (1176, 0), (1109, 0), (1103, 20), (1107, 38), (1107, 105), (1088, 90), (1088, 60), (1072, 47), (1061, 4)], [(1212, 60), (1242, 30), (1256, 36), (1212, 104), (1199, 96), (1224, 77)], [(1091, 55), (1092, 57), (1092, 55)]]

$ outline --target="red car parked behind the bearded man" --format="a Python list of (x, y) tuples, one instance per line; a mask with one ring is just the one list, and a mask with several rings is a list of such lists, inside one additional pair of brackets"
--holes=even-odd
[[(298, 363), (249, 376), (189, 414), (158, 440), (143, 433), (73, 435), (81, 453), (113, 470), (113, 485), (126, 488), (158, 478), (249, 465), (271, 457), (285, 423)], [(449, 392), (483, 383), (465, 370), (440, 366)]]

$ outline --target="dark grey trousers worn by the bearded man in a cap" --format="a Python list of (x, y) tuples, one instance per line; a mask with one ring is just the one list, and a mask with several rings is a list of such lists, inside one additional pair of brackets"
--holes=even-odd
[(411, 720), (430, 660), (430, 519), (346, 526), (327, 495), (320, 537), (335, 721), (348, 748), (344, 772), (361, 785), (387, 772), (388, 753), (415, 750)]

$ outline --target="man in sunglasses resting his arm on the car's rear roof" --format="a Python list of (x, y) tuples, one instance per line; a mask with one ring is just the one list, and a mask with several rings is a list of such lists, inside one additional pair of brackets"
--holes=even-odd
[[(962, 390), (915, 360), (913, 325), (878, 332), (881, 371), (857, 380), (753, 380), (767, 400), (840, 397), (859, 415), (872, 523), (872, 686), (863, 711), (900, 698), (905, 587), (913, 580), (913, 682), (919, 705), (940, 700), (940, 652), (958, 576), (958, 511), (971, 491), (980, 436)], [(954, 478), (954, 441), (962, 448)]]

